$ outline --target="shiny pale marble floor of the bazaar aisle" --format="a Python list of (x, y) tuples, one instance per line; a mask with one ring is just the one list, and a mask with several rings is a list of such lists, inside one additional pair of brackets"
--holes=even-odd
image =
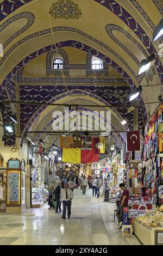
[(85, 196), (75, 190), (70, 219), (62, 220), (47, 204), (22, 215), (0, 214), (0, 245), (140, 245), (135, 236), (122, 239), (114, 229), (115, 204), (102, 201), (91, 189)]

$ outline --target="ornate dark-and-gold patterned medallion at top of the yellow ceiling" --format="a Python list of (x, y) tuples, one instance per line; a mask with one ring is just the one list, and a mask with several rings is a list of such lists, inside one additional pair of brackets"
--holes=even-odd
[(72, 0), (59, 0), (52, 4), (49, 14), (55, 19), (79, 19), (82, 16), (80, 8)]

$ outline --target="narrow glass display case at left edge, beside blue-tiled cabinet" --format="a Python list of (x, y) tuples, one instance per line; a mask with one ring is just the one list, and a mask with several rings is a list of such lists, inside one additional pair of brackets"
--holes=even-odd
[(0, 212), (5, 212), (7, 191), (7, 173), (0, 170)]

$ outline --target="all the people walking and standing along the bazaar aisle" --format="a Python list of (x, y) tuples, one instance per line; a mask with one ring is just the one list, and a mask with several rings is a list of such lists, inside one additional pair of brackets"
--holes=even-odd
[[(46, 185), (46, 184), (44, 184)], [(54, 188), (53, 185), (49, 186), (49, 197), (48, 197), (48, 210), (55, 209), (55, 213), (60, 213), (61, 211), (61, 202), (63, 205), (63, 212), (62, 217), (63, 219), (66, 218), (66, 210), (67, 216), (70, 218), (71, 216), (71, 204), (73, 199), (73, 191), (74, 188), (78, 188), (80, 185), (81, 190), (83, 191), (83, 195), (86, 194), (87, 186), (92, 188), (92, 197), (99, 198), (100, 196), (100, 188), (103, 186), (104, 191), (104, 201), (109, 202), (109, 193), (110, 193), (110, 185), (108, 178), (100, 179), (98, 176), (91, 177), (89, 175), (86, 178), (85, 175), (79, 176), (64, 176), (60, 177), (60, 181), (58, 185)], [(128, 207), (128, 199), (129, 199), (129, 191), (127, 190), (126, 186), (121, 183), (120, 188), (122, 192), (122, 196), (119, 195), (117, 200), (117, 218), (118, 218), (118, 227), (122, 227), (123, 223), (123, 209)]]

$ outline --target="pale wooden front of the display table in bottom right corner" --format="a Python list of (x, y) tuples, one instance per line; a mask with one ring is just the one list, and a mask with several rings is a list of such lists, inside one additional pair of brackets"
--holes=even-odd
[[(134, 222), (134, 233), (138, 237), (138, 239), (142, 242), (143, 245), (157, 245), (158, 244), (157, 231), (159, 231), (159, 235), (163, 236), (163, 228), (147, 227), (146, 225), (143, 225), (137, 220), (135, 220)], [(162, 245), (163, 245), (163, 241), (162, 241)]]

